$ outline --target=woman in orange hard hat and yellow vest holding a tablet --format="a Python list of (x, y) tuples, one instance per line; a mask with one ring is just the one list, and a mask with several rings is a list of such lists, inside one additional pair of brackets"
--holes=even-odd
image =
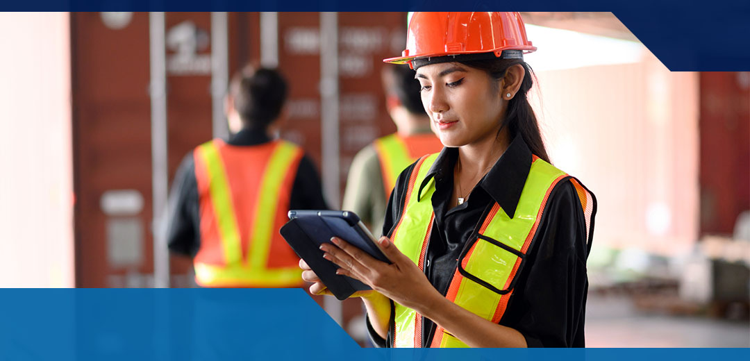
[[(526, 100), (517, 13), (415, 13), (404, 56), (445, 146), (401, 173), (379, 240), (392, 264), (343, 239), (324, 257), (392, 347), (583, 347), (595, 198), (549, 164)], [(325, 285), (301, 262), (313, 293)]]

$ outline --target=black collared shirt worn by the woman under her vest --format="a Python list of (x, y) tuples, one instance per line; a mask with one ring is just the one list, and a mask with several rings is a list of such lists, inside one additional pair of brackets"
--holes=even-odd
[[(514, 215), (529, 174), (532, 153), (521, 137), (515, 137), (466, 202), (449, 209), (457, 160), (457, 148), (444, 148), (425, 179), (425, 182), (433, 176), (435, 179), (431, 199), (435, 220), (425, 256), (425, 275), (443, 295), (448, 290), (460, 252), (483, 219), (487, 206), (497, 202), (509, 216)], [(408, 175), (413, 167), (414, 164), (404, 170), (396, 182), (383, 234), (389, 234), (402, 212)], [(594, 213), (595, 207), (594, 200)], [(553, 188), (544, 213), (532, 248), (526, 254), (526, 265), (517, 275), (513, 294), (499, 323), (521, 332), (529, 347), (583, 347), (589, 239), (586, 219), (571, 182), (559, 182)], [(593, 217), (592, 213), (591, 227)], [(432, 341), (435, 325), (426, 318), (422, 325), (422, 346), (426, 347)], [(391, 340), (386, 342), (378, 337), (369, 324), (368, 329), (375, 344), (391, 344)]]

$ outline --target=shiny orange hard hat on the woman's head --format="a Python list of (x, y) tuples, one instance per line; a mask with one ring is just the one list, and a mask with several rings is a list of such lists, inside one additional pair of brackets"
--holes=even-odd
[(409, 22), (407, 49), (383, 62), (414, 68), (415, 59), (522, 59), (535, 50), (517, 12), (416, 12)]

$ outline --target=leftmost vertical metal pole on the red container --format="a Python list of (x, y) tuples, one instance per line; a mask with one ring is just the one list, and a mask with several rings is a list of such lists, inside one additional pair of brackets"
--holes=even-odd
[(154, 235), (154, 287), (169, 287), (169, 252), (162, 219), (166, 215), (166, 53), (164, 13), (148, 14), (151, 57), (151, 204)]

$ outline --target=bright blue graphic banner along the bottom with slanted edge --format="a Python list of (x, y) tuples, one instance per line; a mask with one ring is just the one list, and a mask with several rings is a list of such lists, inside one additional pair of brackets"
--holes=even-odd
[(299, 289), (1, 289), (0, 309), (0, 359), (704, 361), (750, 356), (747, 349), (360, 348)]

